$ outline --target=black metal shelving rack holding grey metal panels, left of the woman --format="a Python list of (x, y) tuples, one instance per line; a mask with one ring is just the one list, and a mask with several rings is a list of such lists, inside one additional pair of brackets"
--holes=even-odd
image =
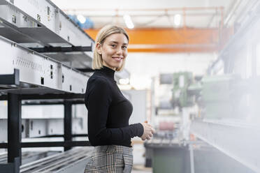
[[(0, 0), (0, 100), (8, 100), (8, 163), (0, 172), (20, 172), (22, 147), (89, 146), (73, 141), (72, 105), (83, 104), (94, 40), (49, 0)], [(88, 72), (88, 73), (84, 73)], [(129, 77), (127, 70), (115, 78)], [(22, 142), (22, 100), (64, 105), (64, 142)], [(27, 105), (29, 103), (26, 103)]]

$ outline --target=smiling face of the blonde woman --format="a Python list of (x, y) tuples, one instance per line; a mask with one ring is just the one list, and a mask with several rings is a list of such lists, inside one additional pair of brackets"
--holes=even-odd
[(127, 37), (123, 33), (114, 33), (108, 36), (103, 44), (97, 44), (98, 53), (103, 59), (103, 66), (115, 70), (122, 66), (123, 60), (127, 57)]

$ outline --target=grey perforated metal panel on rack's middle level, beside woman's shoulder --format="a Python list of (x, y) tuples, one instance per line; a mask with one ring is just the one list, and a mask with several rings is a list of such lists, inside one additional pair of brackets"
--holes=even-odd
[(43, 54), (33, 52), (0, 37), (0, 47), (5, 50), (0, 59), (0, 75), (20, 70), (20, 82), (72, 93), (85, 93), (88, 77), (78, 70), (65, 66)]

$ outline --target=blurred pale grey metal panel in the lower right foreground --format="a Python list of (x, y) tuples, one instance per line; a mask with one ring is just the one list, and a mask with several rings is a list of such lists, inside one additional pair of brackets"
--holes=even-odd
[(246, 167), (260, 172), (259, 123), (193, 121), (191, 132)]

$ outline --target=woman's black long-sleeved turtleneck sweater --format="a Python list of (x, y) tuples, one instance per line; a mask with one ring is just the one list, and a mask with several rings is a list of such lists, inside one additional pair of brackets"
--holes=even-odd
[(131, 146), (131, 137), (143, 135), (143, 125), (129, 125), (133, 107), (114, 80), (115, 71), (103, 66), (89, 77), (85, 93), (88, 137), (92, 146)]

